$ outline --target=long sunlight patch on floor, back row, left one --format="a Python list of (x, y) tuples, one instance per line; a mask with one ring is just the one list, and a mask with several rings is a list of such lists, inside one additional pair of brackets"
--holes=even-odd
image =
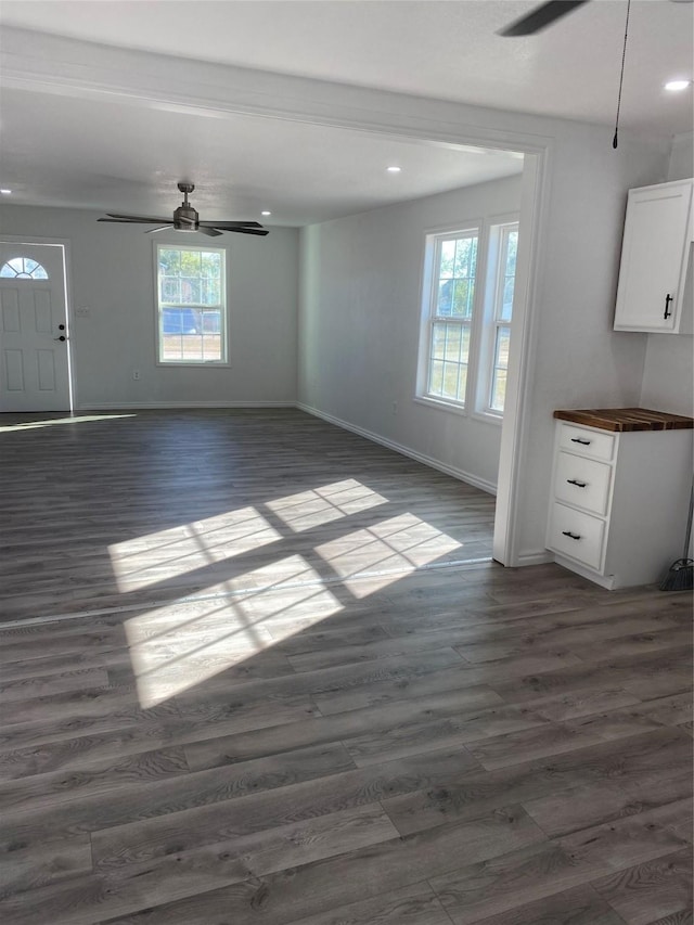
[(108, 547), (119, 591), (136, 591), (281, 540), (255, 508), (242, 508)]

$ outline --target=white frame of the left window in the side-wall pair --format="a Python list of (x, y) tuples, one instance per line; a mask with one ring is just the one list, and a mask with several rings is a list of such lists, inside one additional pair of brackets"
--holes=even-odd
[[(474, 294), (470, 316), (439, 314), (438, 308), (438, 282), (441, 248), (447, 241), (458, 241), (463, 237), (477, 239), (476, 272), (474, 277)], [(465, 414), (471, 395), (471, 377), (474, 370), (471, 365), (474, 343), (474, 323), (478, 313), (479, 300), (480, 261), (484, 261), (485, 239), (481, 221), (470, 221), (454, 227), (447, 227), (430, 231), (425, 237), (424, 270), (422, 278), (422, 316), (420, 330), (420, 354), (417, 362), (417, 380), (415, 400), (425, 404), (445, 409), (458, 414)], [(445, 395), (430, 391), (432, 376), (432, 346), (434, 329), (436, 324), (452, 324), (460, 327), (461, 341), (464, 332), (467, 332), (467, 356), (466, 385), (464, 395), (454, 399)]]

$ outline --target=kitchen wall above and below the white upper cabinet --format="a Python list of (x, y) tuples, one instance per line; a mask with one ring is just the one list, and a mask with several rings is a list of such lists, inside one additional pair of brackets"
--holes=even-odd
[[(684, 180), (694, 176), (692, 132), (672, 139), (668, 180)], [(646, 359), (643, 371), (641, 404), (656, 411), (694, 416), (694, 337), (692, 336), (692, 272), (694, 255), (690, 247), (687, 287), (684, 292), (685, 322), (681, 334), (635, 334), (646, 337)]]

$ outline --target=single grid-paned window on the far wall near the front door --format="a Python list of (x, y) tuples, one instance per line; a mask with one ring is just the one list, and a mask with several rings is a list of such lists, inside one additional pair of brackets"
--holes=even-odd
[(159, 362), (227, 362), (226, 252), (158, 245)]

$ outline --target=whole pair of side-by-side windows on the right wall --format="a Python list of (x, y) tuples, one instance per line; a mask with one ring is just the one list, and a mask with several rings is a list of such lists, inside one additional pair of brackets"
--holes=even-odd
[(517, 246), (515, 220), (427, 235), (420, 399), (501, 420)]

